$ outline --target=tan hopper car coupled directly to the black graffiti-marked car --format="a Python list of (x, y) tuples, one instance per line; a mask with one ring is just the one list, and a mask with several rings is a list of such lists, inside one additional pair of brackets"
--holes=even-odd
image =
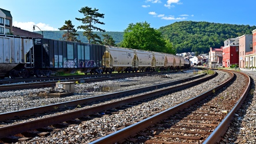
[(104, 72), (112, 71), (130, 72), (133, 71), (134, 51), (130, 48), (106, 46), (103, 55)]

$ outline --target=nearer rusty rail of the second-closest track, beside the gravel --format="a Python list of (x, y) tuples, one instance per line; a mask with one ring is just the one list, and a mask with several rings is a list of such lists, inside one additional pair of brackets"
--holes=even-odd
[[(179, 85), (174, 88), (157, 90), (156, 92), (153, 92), (153, 93), (143, 94), (142, 96), (131, 97), (131, 98), (127, 98), (127, 99), (121, 100), (121, 101), (115, 101), (114, 103), (108, 103), (108, 104), (99, 105), (96, 107), (80, 109), (78, 111), (73, 111), (70, 113), (63, 113), (60, 115), (51, 116), (50, 118), (43, 118), (43, 119), (33, 120), (31, 122), (24, 122), (24, 123), (19, 123), (19, 124), (13, 124), (11, 126), (1, 127), (0, 128), (0, 138), (5, 138), (8, 135), (15, 135), (15, 134), (25, 132), (28, 130), (35, 130), (36, 128), (50, 126), (52, 124), (58, 124), (58, 123), (65, 122), (65, 121), (71, 120), (71, 119), (82, 118), (83, 116), (86, 116), (86, 115), (91, 115), (96, 112), (101, 112), (101, 111), (104, 111), (107, 109), (115, 108), (115, 107), (118, 107), (119, 105), (133, 103), (134, 101), (139, 101), (139, 100), (142, 100), (145, 98), (153, 97), (153, 96), (156, 96), (157, 94), (159, 95), (162, 93), (167, 93), (172, 90), (185, 88), (186, 86), (197, 85), (201, 82), (204, 82), (210, 78), (215, 77), (216, 75), (217, 75), (217, 73), (214, 73), (213, 75), (210, 75), (209, 77), (206, 77), (203, 79), (198, 79), (197, 81), (189, 82), (184, 85)], [(191, 78), (187, 78), (187, 79), (191, 79)], [(182, 79), (180, 81), (184, 81), (184, 79)], [(155, 86), (153, 86), (153, 87), (155, 87)], [(141, 92), (141, 89), (137, 89), (137, 90)], [(148, 90), (148, 88), (146, 90)], [(116, 93), (114, 93), (114, 94), (116, 94)], [(127, 94), (127, 92), (124, 91), (123, 94)], [(110, 94), (109, 96), (111, 96), (111, 95), (112, 94)], [(99, 97), (101, 97), (101, 96), (98, 96), (96, 98), (99, 98)], [(52, 106), (51, 106), (51, 108), (52, 108)]]

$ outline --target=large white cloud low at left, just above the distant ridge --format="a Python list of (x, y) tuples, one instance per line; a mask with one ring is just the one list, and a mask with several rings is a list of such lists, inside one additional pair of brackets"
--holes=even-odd
[[(13, 26), (16, 26), (18, 28), (24, 29), (26, 31), (33, 32), (33, 25), (38, 26), (38, 28), (35, 26), (35, 31), (59, 31), (58, 28), (53, 28), (52, 26), (49, 26), (48, 24), (43, 24), (39, 22), (38, 24), (35, 24), (35, 22), (13, 22)], [(40, 28), (40, 29), (39, 29)]]

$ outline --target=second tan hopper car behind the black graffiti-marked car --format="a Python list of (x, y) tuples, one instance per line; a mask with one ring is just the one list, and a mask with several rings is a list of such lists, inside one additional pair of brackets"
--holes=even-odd
[(138, 70), (149, 70), (152, 68), (153, 54), (150, 51), (134, 50), (134, 67)]

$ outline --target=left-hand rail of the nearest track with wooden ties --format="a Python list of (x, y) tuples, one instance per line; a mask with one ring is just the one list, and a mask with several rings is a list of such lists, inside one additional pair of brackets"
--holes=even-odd
[[(227, 71), (229, 72), (229, 71)], [(91, 142), (93, 143), (118, 143), (120, 141), (123, 141), (125, 138), (129, 138), (130, 135), (135, 135), (141, 130), (145, 130), (145, 128), (152, 126), (152, 124), (155, 124), (161, 120), (166, 119), (168, 116), (180, 111), (181, 109), (189, 107), (189, 105), (194, 104), (195, 102), (201, 100), (202, 98), (205, 98), (206, 96), (209, 96), (209, 94), (212, 94), (214, 90), (219, 90), (223, 88), (223, 86), (227, 85), (229, 82), (234, 79), (234, 73), (229, 72), (232, 77), (229, 78), (227, 81), (223, 82), (219, 86), (216, 86), (213, 89), (208, 90), (205, 93), (202, 93), (194, 98), (191, 98), (190, 100), (187, 100), (181, 104), (175, 105), (174, 107), (171, 107), (169, 109), (166, 109), (163, 112), (157, 113), (156, 115), (150, 116), (147, 119), (141, 120), (138, 123), (132, 124), (131, 126), (128, 126), (126, 128), (123, 128), (122, 130), (113, 132), (110, 135), (107, 135), (106, 137), (97, 139), (96, 141)]]

